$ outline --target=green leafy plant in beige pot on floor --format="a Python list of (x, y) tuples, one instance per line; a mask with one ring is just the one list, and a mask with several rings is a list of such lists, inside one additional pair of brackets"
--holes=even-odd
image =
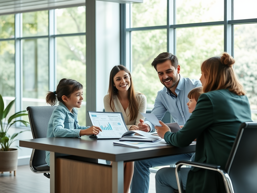
[[(20, 131), (19, 133), (14, 133), (12, 136), (10, 136), (7, 131), (16, 122), (21, 122), (25, 126), (29, 125), (29, 122), (24, 120), (15, 120), (15, 118), (17, 117), (27, 115), (26, 113), (23, 113), (25, 111), (17, 112), (11, 115), (8, 120), (6, 120), (6, 117), (10, 112), (14, 102), (15, 99), (11, 101), (4, 109), (3, 97), (0, 94), (0, 172), (10, 171), (11, 173), (11, 171), (14, 171), (15, 176), (18, 163), (18, 150), (15, 148), (11, 148), (11, 145), (14, 141), (16, 141), (15, 137), (23, 131)], [(15, 147), (19, 148), (19, 146)]]

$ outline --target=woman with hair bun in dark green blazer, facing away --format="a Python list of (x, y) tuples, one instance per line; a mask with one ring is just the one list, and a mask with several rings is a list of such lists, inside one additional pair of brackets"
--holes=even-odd
[[(250, 104), (243, 86), (237, 80), (235, 60), (227, 53), (209, 58), (201, 65), (200, 81), (203, 94), (195, 110), (177, 133), (167, 125), (155, 126), (165, 141), (176, 147), (186, 147), (197, 139), (195, 161), (220, 165), (225, 168), (240, 125), (251, 120)], [(225, 192), (222, 176), (215, 171), (200, 168), (181, 168), (186, 192)], [(156, 176), (156, 192), (178, 189), (175, 168), (162, 168)]]

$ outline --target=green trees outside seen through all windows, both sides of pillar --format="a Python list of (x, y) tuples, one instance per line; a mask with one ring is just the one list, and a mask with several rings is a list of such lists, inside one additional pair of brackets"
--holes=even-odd
[[(176, 1), (176, 23), (199, 23), (224, 19), (221, 0)], [(167, 1), (146, 0), (132, 4), (131, 27), (167, 24)], [(85, 7), (56, 10), (57, 34), (85, 32)], [(257, 109), (256, 24), (234, 26), (235, 72), (247, 91), (251, 108)], [(48, 12), (23, 13), (23, 36), (48, 35)], [(14, 37), (14, 15), (0, 16), (0, 38)], [(167, 30), (132, 32), (132, 78), (137, 92), (147, 97), (152, 108), (157, 92), (163, 88), (151, 63), (161, 52), (167, 51)], [(48, 40), (23, 40), (23, 97), (44, 99), (48, 88)], [(58, 37), (57, 82), (63, 77), (73, 78), (84, 85), (86, 96), (86, 38)], [(176, 55), (181, 75), (199, 79), (201, 63), (224, 49), (224, 27), (195, 27), (176, 29)], [(31, 57), (33, 56), (33, 57)], [(7, 66), (7, 67), (6, 67)], [(31, 74), (27, 73), (30, 70)], [(0, 41), (0, 92), (15, 96), (14, 40)], [(32, 82), (29, 86), (27, 83)], [(56, 86), (56, 85), (55, 85)], [(86, 101), (86, 99), (84, 99)], [(25, 109), (26, 107), (24, 107)], [(85, 125), (86, 108), (81, 107), (79, 121)]]

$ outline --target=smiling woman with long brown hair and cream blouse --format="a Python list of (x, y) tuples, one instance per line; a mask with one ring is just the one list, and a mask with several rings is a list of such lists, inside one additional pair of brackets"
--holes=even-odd
[[(146, 112), (146, 97), (134, 90), (131, 74), (125, 66), (114, 66), (110, 73), (108, 94), (104, 97), (106, 112), (122, 112), (128, 130), (138, 130), (137, 124)], [(134, 162), (124, 164), (124, 193), (127, 193), (134, 172)]]

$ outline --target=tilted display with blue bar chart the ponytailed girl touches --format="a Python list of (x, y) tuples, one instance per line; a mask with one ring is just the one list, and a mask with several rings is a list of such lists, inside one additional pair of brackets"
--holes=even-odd
[(120, 139), (128, 131), (121, 112), (88, 111), (88, 114), (92, 125), (102, 129), (97, 139)]

